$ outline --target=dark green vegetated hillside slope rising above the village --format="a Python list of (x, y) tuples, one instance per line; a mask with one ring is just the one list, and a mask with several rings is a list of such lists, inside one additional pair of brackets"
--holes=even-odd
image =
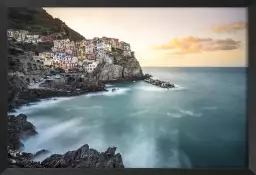
[(69, 28), (60, 19), (53, 18), (42, 8), (8, 8), (8, 28), (27, 30), (39, 35), (61, 33), (63, 38), (69, 38), (74, 41), (84, 39), (82, 35)]

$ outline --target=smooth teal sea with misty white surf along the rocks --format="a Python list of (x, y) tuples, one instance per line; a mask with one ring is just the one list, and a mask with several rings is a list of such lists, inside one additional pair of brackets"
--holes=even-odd
[[(108, 92), (24, 106), (38, 135), (25, 152), (117, 147), (126, 168), (245, 168), (246, 68), (143, 68), (175, 84), (107, 84)], [(112, 88), (119, 90), (112, 92)], [(42, 161), (49, 155), (38, 157)]]

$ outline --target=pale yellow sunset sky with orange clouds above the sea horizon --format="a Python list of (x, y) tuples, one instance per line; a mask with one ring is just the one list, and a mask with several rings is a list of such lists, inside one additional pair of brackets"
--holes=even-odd
[(85, 38), (131, 45), (143, 67), (246, 67), (246, 8), (44, 8)]

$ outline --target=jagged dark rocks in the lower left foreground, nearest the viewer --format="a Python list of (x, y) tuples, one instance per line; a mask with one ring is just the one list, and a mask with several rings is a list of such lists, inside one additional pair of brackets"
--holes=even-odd
[(8, 167), (9, 168), (124, 168), (122, 156), (115, 153), (116, 147), (109, 147), (105, 152), (98, 152), (85, 144), (77, 150), (63, 155), (52, 154), (42, 162), (34, 158), (49, 153), (39, 150), (35, 154), (21, 152), (24, 148), (21, 139), (37, 135), (35, 126), (27, 121), (27, 116), (8, 116)]

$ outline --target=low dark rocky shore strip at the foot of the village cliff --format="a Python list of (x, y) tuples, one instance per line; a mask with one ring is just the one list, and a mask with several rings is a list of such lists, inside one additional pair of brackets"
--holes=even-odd
[[(118, 80), (108, 80), (108, 81), (93, 81), (91, 84), (88, 82), (79, 82), (73, 80), (73, 82), (64, 83), (61, 85), (49, 85), (47, 84), (44, 89), (28, 89), (18, 90), (18, 96), (12, 103), (9, 103), (9, 112), (14, 112), (15, 109), (20, 108), (24, 105), (30, 105), (31, 103), (39, 102), (41, 100), (51, 100), (57, 97), (72, 97), (83, 94), (88, 94), (92, 92), (102, 92), (108, 91), (105, 87), (107, 83), (118, 83), (118, 82), (134, 82), (140, 81), (148, 78), (149, 75), (146, 74), (142, 77), (131, 77), (123, 78)], [(51, 86), (51, 87), (50, 87)]]

